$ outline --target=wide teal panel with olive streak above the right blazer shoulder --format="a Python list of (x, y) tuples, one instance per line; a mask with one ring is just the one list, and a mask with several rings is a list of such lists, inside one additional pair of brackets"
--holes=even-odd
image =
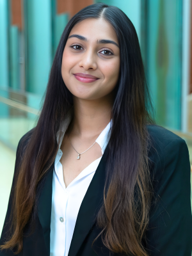
[(149, 0), (147, 26), (147, 77), (157, 124), (180, 129), (182, 0)]

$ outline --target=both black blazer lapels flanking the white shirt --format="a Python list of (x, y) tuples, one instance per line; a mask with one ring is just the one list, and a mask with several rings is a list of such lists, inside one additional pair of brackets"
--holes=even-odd
[[(90, 183), (90, 186), (88, 187), (88, 190), (86, 191), (81, 203), (68, 256), (74, 256), (77, 254), (81, 244), (96, 221), (97, 213), (99, 212), (100, 206), (103, 202), (107, 152), (108, 146), (100, 159), (100, 163), (97, 167), (95, 175), (93, 176), (92, 182)], [(47, 172), (44, 187), (38, 201), (38, 218), (43, 228), (45, 246), (47, 247), (48, 254), (50, 254), (53, 168), (54, 164), (52, 164), (51, 168)]]

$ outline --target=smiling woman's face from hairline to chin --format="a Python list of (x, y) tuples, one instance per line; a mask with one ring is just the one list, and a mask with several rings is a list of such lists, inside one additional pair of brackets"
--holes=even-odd
[(72, 28), (63, 51), (61, 75), (74, 97), (106, 97), (116, 86), (119, 70), (118, 39), (109, 22), (86, 19)]

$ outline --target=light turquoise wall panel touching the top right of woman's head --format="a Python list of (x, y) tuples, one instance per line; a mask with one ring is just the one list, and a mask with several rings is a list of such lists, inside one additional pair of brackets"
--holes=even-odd
[(95, 3), (105, 3), (120, 8), (131, 20), (138, 38), (141, 38), (141, 0), (95, 0)]

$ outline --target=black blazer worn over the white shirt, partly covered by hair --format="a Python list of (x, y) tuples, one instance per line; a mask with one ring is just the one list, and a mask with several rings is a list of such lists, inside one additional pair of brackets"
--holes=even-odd
[[(188, 147), (184, 140), (163, 127), (149, 125), (148, 132), (154, 146), (150, 147), (148, 157), (152, 163), (150, 172), (155, 196), (150, 207), (150, 221), (146, 232), (147, 243), (143, 241), (143, 246), (147, 248), (150, 256), (191, 256), (191, 172)], [(25, 147), (22, 141), (28, 136), (29, 132), (20, 140), (15, 166), (20, 162), (19, 152)], [(100, 232), (95, 223), (95, 216), (102, 204), (105, 156), (104, 153), (83, 198), (68, 256), (110, 255), (100, 237), (92, 248), (92, 241)], [(35, 232), (26, 236), (29, 232), (29, 225), (26, 225), (20, 256), (48, 256), (50, 254), (52, 173), (53, 165), (47, 172), (40, 193)], [(14, 173), (0, 244), (4, 243), (9, 227), (6, 223), (10, 217), (15, 175)], [(0, 256), (8, 255), (13, 256), (13, 252), (11, 250), (0, 252)], [(111, 255), (117, 254), (111, 253)]]

